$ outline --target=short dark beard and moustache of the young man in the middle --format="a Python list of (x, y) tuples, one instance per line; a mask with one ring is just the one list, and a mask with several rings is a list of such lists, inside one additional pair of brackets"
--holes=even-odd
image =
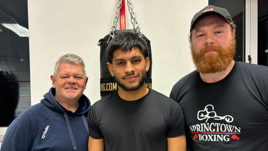
[[(132, 73), (132, 74), (127, 74), (126, 76), (121, 77), (121, 79), (123, 80), (123, 78), (133, 76), (133, 75), (137, 75), (138, 77), (140, 76), (140, 74)], [(125, 91), (136, 91), (142, 87), (143, 83), (145, 82), (145, 77), (146, 77), (146, 71), (144, 72), (144, 74), (142, 74), (142, 78), (138, 81), (138, 84), (133, 85), (133, 86), (131, 84), (130, 87), (126, 86), (123, 82), (121, 82), (119, 77), (116, 77), (116, 75), (115, 75), (115, 81), (118, 84), (118, 86), (120, 86)]]

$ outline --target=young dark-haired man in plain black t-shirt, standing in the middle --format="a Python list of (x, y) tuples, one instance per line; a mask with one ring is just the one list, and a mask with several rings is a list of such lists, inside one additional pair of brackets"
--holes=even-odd
[(186, 151), (181, 107), (145, 86), (150, 67), (145, 41), (123, 32), (110, 41), (106, 54), (118, 90), (89, 109), (88, 150)]

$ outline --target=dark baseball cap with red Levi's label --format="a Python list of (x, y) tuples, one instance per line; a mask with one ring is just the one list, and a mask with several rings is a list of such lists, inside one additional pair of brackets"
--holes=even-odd
[(194, 17), (192, 18), (190, 33), (191, 33), (193, 27), (195, 26), (196, 22), (198, 22), (199, 19), (201, 19), (205, 16), (208, 16), (208, 15), (218, 15), (218, 16), (224, 18), (226, 20), (226, 22), (228, 22), (228, 23), (232, 22), (232, 17), (226, 9), (220, 8), (217, 6), (213, 6), (213, 5), (208, 5), (205, 8), (203, 8), (202, 10), (200, 10), (199, 12), (197, 12), (194, 15)]

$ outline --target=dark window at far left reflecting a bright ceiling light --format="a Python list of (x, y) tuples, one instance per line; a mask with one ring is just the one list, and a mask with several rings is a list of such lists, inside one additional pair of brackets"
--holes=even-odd
[(0, 127), (6, 127), (31, 106), (27, 0), (0, 0), (0, 29)]

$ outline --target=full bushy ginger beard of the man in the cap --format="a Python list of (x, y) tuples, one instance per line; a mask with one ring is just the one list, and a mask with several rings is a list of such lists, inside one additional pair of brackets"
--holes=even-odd
[[(199, 53), (195, 53), (192, 46), (192, 39), (189, 39), (189, 42), (192, 60), (195, 64), (196, 71), (202, 74), (212, 74), (226, 70), (235, 56), (235, 36), (232, 36), (230, 44), (226, 49), (223, 49), (220, 46), (207, 46), (201, 49)], [(219, 54), (205, 55), (205, 53), (211, 49), (217, 50)]]

